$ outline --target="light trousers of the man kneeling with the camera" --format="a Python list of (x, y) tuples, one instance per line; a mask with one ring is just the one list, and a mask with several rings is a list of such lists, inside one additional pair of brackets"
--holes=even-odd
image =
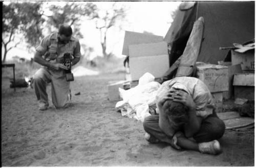
[(47, 67), (38, 69), (33, 77), (37, 101), (49, 105), (46, 86), (51, 82), (52, 103), (56, 108), (69, 103), (70, 82), (66, 81), (64, 70), (50, 70)]

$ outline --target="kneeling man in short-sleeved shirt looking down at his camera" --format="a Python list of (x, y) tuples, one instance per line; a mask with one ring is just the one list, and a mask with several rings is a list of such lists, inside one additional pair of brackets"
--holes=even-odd
[(72, 36), (72, 28), (63, 24), (58, 32), (44, 37), (36, 48), (34, 61), (42, 65), (33, 78), (39, 110), (49, 106), (47, 83), (52, 86), (52, 103), (56, 108), (65, 108), (70, 102), (71, 67), (81, 57), (80, 43)]

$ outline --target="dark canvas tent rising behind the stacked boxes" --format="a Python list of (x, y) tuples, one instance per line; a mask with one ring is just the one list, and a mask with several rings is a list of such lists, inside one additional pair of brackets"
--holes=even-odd
[(227, 50), (220, 47), (254, 38), (254, 2), (183, 2), (164, 41), (172, 46), (170, 66), (182, 55), (194, 22), (204, 18), (201, 51), (197, 61), (218, 64)]

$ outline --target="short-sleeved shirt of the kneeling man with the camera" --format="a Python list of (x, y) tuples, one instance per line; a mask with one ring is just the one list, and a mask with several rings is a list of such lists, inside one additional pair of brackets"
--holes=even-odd
[(63, 57), (65, 53), (70, 53), (73, 57), (80, 58), (80, 43), (74, 36), (67, 44), (58, 42), (58, 33), (52, 33), (44, 37), (37, 46), (36, 51), (43, 55), (47, 61)]

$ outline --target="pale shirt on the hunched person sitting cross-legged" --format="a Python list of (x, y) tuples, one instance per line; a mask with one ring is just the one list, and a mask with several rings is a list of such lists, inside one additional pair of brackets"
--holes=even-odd
[(183, 89), (191, 95), (196, 104), (197, 116), (205, 118), (212, 114), (214, 101), (209, 89), (201, 80), (194, 77), (176, 77), (165, 81), (157, 91), (157, 99), (171, 88)]

